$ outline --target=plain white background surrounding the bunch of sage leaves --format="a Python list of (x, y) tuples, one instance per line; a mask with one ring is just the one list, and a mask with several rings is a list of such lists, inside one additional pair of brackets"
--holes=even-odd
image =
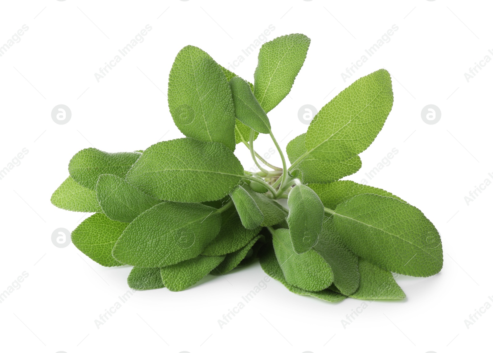
[[(2, 1), (0, 45), (22, 25), (29, 30), (0, 57), (0, 169), (23, 148), (29, 152), (0, 180), (0, 292), (24, 271), (29, 276), (0, 304), (1, 350), (485, 352), (493, 309), (469, 328), (464, 319), (493, 295), (493, 186), (469, 205), (464, 196), (493, 181), (493, 63), (469, 82), (464, 73), (493, 58), (492, 7), (443, 0)], [(94, 73), (147, 24), (145, 40), (98, 83)], [(391, 40), (344, 82), (341, 73), (394, 24)], [(393, 109), (361, 154), (363, 167), (348, 178), (360, 182), (397, 148), (391, 164), (367, 181), (433, 221), (442, 236), (442, 272), (400, 276), (406, 300), (370, 303), (345, 328), (341, 320), (361, 300), (330, 304), (272, 280), (221, 329), (217, 320), (265, 276), (258, 264), (184, 292), (137, 292), (97, 328), (94, 320), (128, 290), (130, 267), (105, 268), (72, 244), (52, 244), (56, 228), (71, 231), (89, 215), (50, 204), (70, 157), (91, 146), (132, 151), (181, 137), (166, 97), (176, 53), (193, 44), (224, 66), (243, 55), (234, 71), (253, 82), (258, 48), (248, 57), (242, 49), (269, 25), (269, 40), (290, 33), (312, 39), (289, 96), (269, 113), (282, 148), (308, 127), (298, 119), (301, 106), (319, 109), (356, 78), (380, 68), (391, 73)], [(72, 112), (65, 125), (51, 118), (59, 104)], [(434, 125), (421, 117), (428, 104), (442, 113)], [(266, 136), (256, 142), (262, 154), (271, 147)], [(246, 169), (253, 166), (244, 146), (236, 154)], [(270, 161), (280, 164), (277, 153)]]

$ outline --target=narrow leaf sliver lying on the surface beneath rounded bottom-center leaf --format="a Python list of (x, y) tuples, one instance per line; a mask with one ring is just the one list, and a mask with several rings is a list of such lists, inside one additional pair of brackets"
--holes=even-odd
[(340, 302), (341, 300), (344, 300), (346, 298), (345, 295), (336, 293), (330, 289), (323, 289), (320, 291), (311, 292), (298, 288), (292, 284), (289, 284), (284, 278), (284, 274), (282, 273), (281, 266), (279, 266), (279, 262), (276, 258), (276, 254), (274, 253), (274, 249), (272, 248), (265, 251), (260, 256), (260, 266), (262, 267), (262, 270), (264, 270), (264, 272), (267, 275), (284, 284), (284, 286), (287, 289), (289, 289), (290, 292), (300, 295), (308, 295), (308, 296), (316, 297), (318, 299), (322, 299), (332, 303)]

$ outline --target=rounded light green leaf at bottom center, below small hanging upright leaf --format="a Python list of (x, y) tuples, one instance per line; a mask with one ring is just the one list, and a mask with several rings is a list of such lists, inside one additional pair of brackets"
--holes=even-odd
[(330, 265), (314, 249), (294, 252), (288, 229), (276, 229), (272, 235), (276, 257), (286, 281), (298, 288), (316, 292), (334, 280)]

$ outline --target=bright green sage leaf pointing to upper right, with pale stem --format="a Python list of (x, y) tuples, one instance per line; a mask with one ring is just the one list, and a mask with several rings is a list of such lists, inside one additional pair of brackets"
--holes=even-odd
[(381, 69), (356, 80), (323, 106), (308, 127), (305, 152), (326, 162), (346, 161), (375, 140), (392, 109), (392, 82)]

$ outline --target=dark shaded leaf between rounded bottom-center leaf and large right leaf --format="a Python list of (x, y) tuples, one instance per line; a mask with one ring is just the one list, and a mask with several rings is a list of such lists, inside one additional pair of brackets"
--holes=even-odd
[(330, 265), (334, 273), (334, 284), (341, 293), (354, 293), (359, 285), (358, 257), (344, 245), (332, 218), (324, 218), (322, 232), (314, 250)]

